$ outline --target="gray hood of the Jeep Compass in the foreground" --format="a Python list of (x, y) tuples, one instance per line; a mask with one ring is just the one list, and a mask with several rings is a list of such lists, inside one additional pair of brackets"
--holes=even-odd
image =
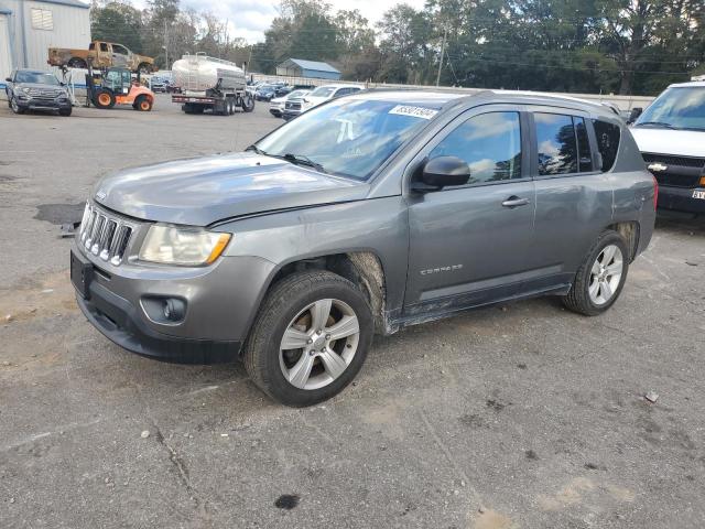
[(362, 182), (250, 152), (148, 165), (104, 177), (96, 202), (145, 220), (207, 226), (217, 220), (367, 196)]

